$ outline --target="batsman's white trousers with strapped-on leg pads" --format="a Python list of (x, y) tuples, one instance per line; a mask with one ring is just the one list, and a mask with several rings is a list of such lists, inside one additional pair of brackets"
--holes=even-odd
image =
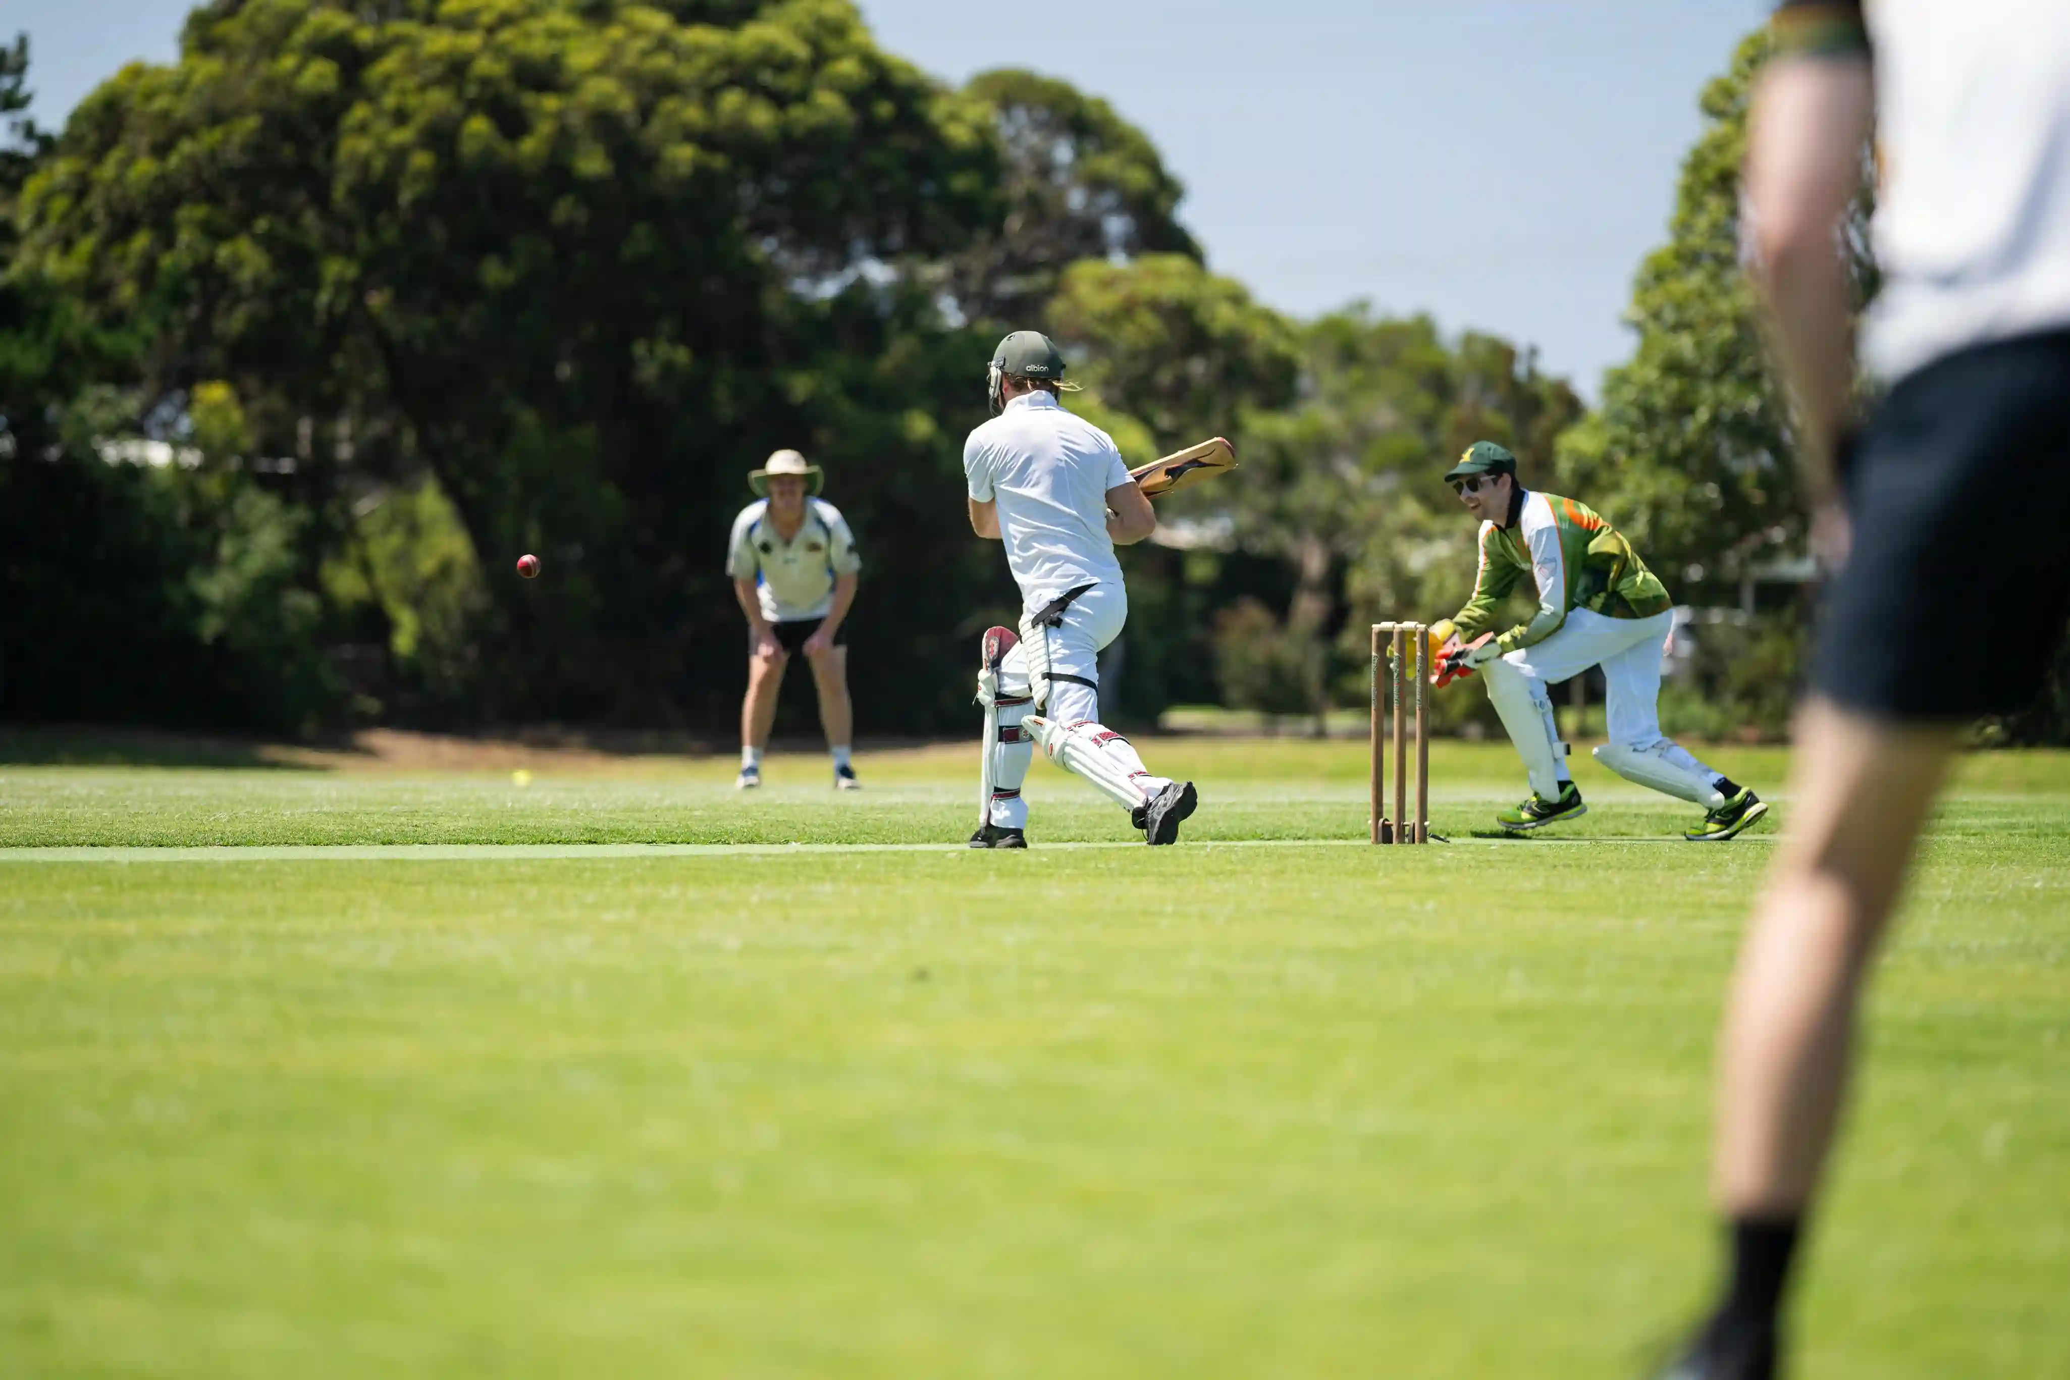
[[(1120, 586), (1095, 586), (1072, 600), (1064, 610), (1060, 627), (1039, 627), (1033, 614), (1066, 590), (1037, 590), (1029, 596), (1021, 612), (1021, 643), (1006, 654), (1000, 666), (996, 710), (998, 734), (985, 745), (992, 757), (992, 823), (1002, 830), (1025, 830), (1029, 807), (1021, 797), (1035, 745), (1025, 734), (1021, 720), (1041, 714), (1064, 726), (1085, 724), (1087, 755), (1060, 753), (1056, 759), (1078, 772), (1116, 803), (1132, 807), (1134, 799), (1155, 797), (1172, 784), (1163, 776), (1151, 776), (1128, 739), (1099, 724), (1099, 652), (1122, 635), (1128, 621), (1128, 594)], [(1072, 679), (1058, 679), (1072, 677)], [(979, 681), (979, 697), (985, 695)], [(1008, 703), (1014, 697), (1031, 695), (1033, 701)], [(1081, 766), (1089, 770), (1078, 770)], [(1122, 790), (1120, 786), (1126, 786)], [(1128, 797), (1128, 799), (1124, 799)]]

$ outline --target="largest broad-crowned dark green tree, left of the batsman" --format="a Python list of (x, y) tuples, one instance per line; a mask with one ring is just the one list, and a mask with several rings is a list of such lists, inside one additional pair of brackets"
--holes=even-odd
[(546, 559), (489, 586), (480, 714), (652, 722), (727, 693), (696, 670), (737, 646), (739, 472), (878, 459), (818, 428), (828, 341), (913, 325), (905, 265), (996, 176), (985, 112), (845, 0), (253, 0), (89, 95), (23, 221), (147, 323), (155, 391), (234, 389), (317, 534), (428, 472), (486, 569)]

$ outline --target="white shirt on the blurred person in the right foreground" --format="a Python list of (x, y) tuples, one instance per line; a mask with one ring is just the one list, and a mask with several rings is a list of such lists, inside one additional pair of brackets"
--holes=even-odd
[(2070, 0), (1869, 0), (1882, 379), (2070, 327)]

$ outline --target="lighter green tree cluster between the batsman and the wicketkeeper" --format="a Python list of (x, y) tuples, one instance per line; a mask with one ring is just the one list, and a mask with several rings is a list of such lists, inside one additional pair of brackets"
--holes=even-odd
[[(1101, 424), (1122, 414), (1157, 451), (1225, 434), (1242, 466), (1161, 505), (1163, 540), (1186, 550), (1130, 557), (1130, 677), (1317, 726), (1356, 660), (1339, 639), (1350, 614), (1463, 602), (1472, 528), (1437, 480), (1449, 457), (1486, 437), (1542, 474), (1581, 414), (1495, 335), (1449, 343), (1428, 317), (1364, 306), (1296, 325), (1174, 254), (1072, 265), (1049, 325)], [(1217, 668), (1219, 685), (1188, 668)]]

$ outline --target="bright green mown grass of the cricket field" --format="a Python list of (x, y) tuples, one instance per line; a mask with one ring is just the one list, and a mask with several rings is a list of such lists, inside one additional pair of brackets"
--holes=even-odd
[[(1637, 1374), (1772, 826), (1145, 747), (1178, 848), (1043, 763), (936, 846), (969, 749), (0, 766), (0, 1374)], [(1867, 1047), (1799, 1376), (2070, 1376), (2070, 757), (1964, 763)]]

